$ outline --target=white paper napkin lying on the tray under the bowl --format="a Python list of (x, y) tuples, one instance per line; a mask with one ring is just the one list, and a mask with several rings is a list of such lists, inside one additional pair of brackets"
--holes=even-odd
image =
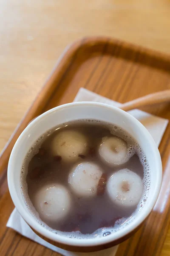
[[(116, 107), (119, 107), (121, 105), (118, 102), (102, 97), (84, 88), (79, 89), (77, 96), (74, 99), (74, 102), (81, 102), (81, 101), (103, 102)], [(159, 143), (161, 142), (161, 138), (167, 127), (168, 120), (164, 118), (160, 118), (158, 116), (150, 115), (149, 113), (139, 111), (139, 110), (132, 110), (132, 111), (129, 111), (129, 113), (132, 116), (135, 116), (136, 119), (138, 119), (147, 128), (147, 130), (150, 132), (153, 139), (155, 140), (156, 145), (159, 146)], [(37, 243), (42, 244), (43, 246), (48, 247), (51, 250), (54, 250), (55, 252), (58, 252), (64, 256), (87, 256), (87, 255), (88, 256), (115, 256), (116, 250), (118, 248), (118, 246), (114, 246), (109, 249), (105, 249), (105, 250), (94, 252), (94, 253), (77, 253), (77, 252), (70, 252), (67, 250), (60, 249), (59, 247), (56, 247), (46, 242), (39, 236), (37, 236), (28, 226), (26, 221), (24, 221), (24, 219), (21, 217), (20, 213), (17, 211), (16, 208), (11, 213), (11, 216), (9, 217), (6, 226), (11, 227), (13, 230), (16, 230), (21, 235), (26, 236), (27, 238), (33, 241), (36, 241)]]

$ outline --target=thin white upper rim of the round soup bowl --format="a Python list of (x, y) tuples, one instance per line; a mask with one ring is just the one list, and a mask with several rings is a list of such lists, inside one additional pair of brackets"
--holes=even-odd
[[(157, 183), (156, 183), (156, 189), (154, 195), (152, 195), (152, 198), (150, 199), (150, 207), (145, 207), (142, 209), (142, 212), (140, 214), (140, 217), (138, 218), (139, 221), (136, 222), (136, 219), (127, 225), (126, 227), (122, 228), (121, 230), (118, 230), (114, 233), (112, 233), (109, 236), (105, 237), (96, 237), (96, 238), (87, 238), (87, 239), (78, 239), (78, 238), (69, 238), (68, 236), (56, 234), (54, 232), (51, 232), (50, 230), (47, 230), (45, 227), (42, 227), (36, 219), (31, 216), (26, 209), (24, 209), (23, 205), (21, 204), (17, 191), (14, 186), (14, 173), (15, 173), (15, 168), (13, 165), (15, 156), (17, 152), (19, 151), (20, 148), (20, 142), (24, 139), (24, 137), (28, 134), (28, 131), (30, 128), (34, 129), (34, 125), (39, 122), (41, 119), (44, 119), (45, 116), (51, 114), (52, 112), (59, 111), (63, 108), (71, 108), (73, 106), (79, 106), (79, 105), (84, 105), (84, 106), (97, 106), (101, 108), (108, 108), (112, 111), (117, 111), (121, 116), (126, 116), (128, 119), (130, 119), (131, 122), (133, 122), (136, 127), (140, 128), (140, 130), (143, 132), (145, 139), (147, 139), (150, 143), (150, 146), (153, 150), (153, 153), (155, 154), (155, 161), (156, 161), (156, 166), (157, 166)], [(44, 131), (45, 132), (45, 131)], [(159, 195), (159, 191), (161, 188), (161, 180), (162, 180), (162, 164), (161, 164), (161, 157), (159, 154), (159, 150), (157, 148), (157, 145), (155, 141), (153, 140), (152, 136), (150, 135), (149, 131), (142, 125), (135, 117), (131, 116), (129, 113), (116, 108), (114, 106), (105, 104), (105, 103), (100, 103), (100, 102), (72, 102), (64, 105), (57, 106), (55, 108), (52, 108), (45, 113), (42, 113), (40, 116), (38, 116), (36, 119), (34, 119), (25, 129), (24, 131), (20, 134), (19, 138), (17, 139), (12, 151), (11, 155), (9, 158), (8, 162), (8, 188), (9, 192), (12, 198), (12, 201), (14, 202), (15, 207), (17, 208), (18, 212), (20, 215), (23, 217), (23, 219), (32, 227), (37, 233), (40, 233), (42, 236), (45, 236), (48, 239), (51, 239), (53, 241), (59, 242), (61, 244), (67, 244), (71, 246), (77, 246), (77, 247), (91, 247), (91, 246), (97, 246), (101, 244), (107, 244), (113, 241), (116, 241), (118, 239), (121, 239), (122, 237), (126, 236), (128, 233), (132, 232), (135, 230), (147, 216), (150, 214), (151, 210), (153, 209), (156, 200)]]

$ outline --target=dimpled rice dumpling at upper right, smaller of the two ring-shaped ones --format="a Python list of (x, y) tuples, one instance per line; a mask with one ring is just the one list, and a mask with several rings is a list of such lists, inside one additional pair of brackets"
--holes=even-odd
[(102, 160), (111, 166), (125, 163), (127, 158), (127, 143), (119, 137), (104, 137), (99, 146), (99, 155)]

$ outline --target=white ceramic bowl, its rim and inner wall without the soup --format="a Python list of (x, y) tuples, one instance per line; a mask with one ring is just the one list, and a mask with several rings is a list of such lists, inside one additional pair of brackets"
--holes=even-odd
[[(109, 236), (89, 239), (73, 239), (64, 235), (55, 234), (42, 227), (27, 209), (20, 189), (20, 172), (24, 158), (33, 143), (50, 128), (77, 119), (98, 119), (113, 123), (127, 131), (141, 146), (147, 157), (151, 170), (150, 193), (146, 204), (136, 218), (123, 229), (113, 232)], [(136, 229), (151, 212), (159, 195), (162, 180), (162, 165), (159, 150), (147, 129), (133, 116), (110, 105), (96, 102), (76, 102), (53, 108), (32, 121), (22, 132), (8, 163), (8, 186), (11, 198), (17, 210), (25, 221), (41, 236), (54, 242), (76, 247), (92, 247), (119, 241)]]

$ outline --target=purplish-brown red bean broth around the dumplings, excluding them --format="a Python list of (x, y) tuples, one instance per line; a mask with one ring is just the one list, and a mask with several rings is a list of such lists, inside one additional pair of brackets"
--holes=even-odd
[[(37, 209), (37, 206), (34, 202), (34, 195), (37, 190), (39, 190), (40, 187), (48, 181), (51, 183), (60, 183), (70, 191), (68, 175), (76, 163), (67, 163), (62, 160), (62, 157), (53, 156), (50, 153), (51, 141), (53, 140), (54, 136), (56, 136), (56, 134), (62, 130), (71, 129), (75, 131), (81, 131), (81, 133), (88, 138), (87, 153), (85, 155), (79, 156), (77, 164), (82, 163), (83, 161), (96, 163), (101, 167), (107, 178), (109, 178), (114, 172), (127, 168), (133, 172), (136, 172), (136, 174), (138, 174), (143, 179), (145, 173), (144, 170), (146, 169), (145, 167), (147, 166), (149, 169), (147, 160), (143, 159), (144, 161), (142, 162), (142, 151), (136, 142), (130, 138), (130, 136), (125, 131), (122, 131), (122, 129), (119, 129), (116, 126), (103, 124), (98, 121), (76, 121), (67, 123), (67, 126), (65, 125), (66, 124), (61, 125), (60, 128), (56, 127), (52, 129), (51, 132), (46, 132), (44, 135), (42, 135), (42, 144), (39, 152), (38, 144), (35, 143), (35, 145), (31, 148), (31, 150), (34, 149), (34, 151), (38, 153), (35, 154), (29, 161), (28, 174), (26, 176), (28, 190), (23, 187), (23, 196), (27, 198), (26, 194), (28, 193), (28, 197), (30, 198), (31, 203), (35, 209)], [(128, 147), (133, 148), (133, 151), (135, 151), (127, 163), (115, 167), (108, 166), (106, 163), (104, 163), (98, 154), (98, 148), (102, 142), (102, 138), (106, 136), (111, 137), (113, 134), (117, 134), (123, 137), (127, 141)], [(145, 163), (146, 166), (144, 166)], [(23, 170), (23, 172), (27, 172), (27, 170)], [(130, 216), (132, 216), (136, 210), (136, 207), (130, 207), (128, 209), (115, 207), (115, 205), (113, 205), (113, 203), (109, 200), (106, 191), (102, 195), (96, 195), (96, 197), (91, 199), (86, 199), (83, 197), (81, 198), (75, 195), (73, 192), (71, 192), (71, 197), (73, 210), (71, 210), (69, 215), (63, 221), (47, 222), (41, 215), (40, 219), (53, 230), (64, 232), (79, 231), (82, 234), (95, 234), (96, 230), (101, 229), (102, 227), (114, 227), (115, 223), (117, 223), (116, 221), (119, 220), (118, 223), (121, 223), (121, 219), (123, 222), (123, 220), (130, 218)], [(110, 234), (110, 232), (105, 232), (103, 233), (103, 236), (108, 234)]]

